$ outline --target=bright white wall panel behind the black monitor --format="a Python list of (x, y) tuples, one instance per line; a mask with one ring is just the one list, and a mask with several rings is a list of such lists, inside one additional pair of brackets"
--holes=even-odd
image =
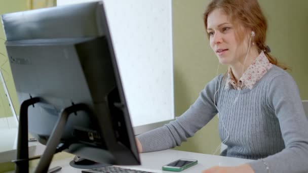
[(133, 126), (173, 119), (171, 0), (103, 2)]

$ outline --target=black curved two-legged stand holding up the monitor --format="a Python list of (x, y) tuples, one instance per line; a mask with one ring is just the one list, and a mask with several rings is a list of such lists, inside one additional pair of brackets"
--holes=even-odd
[[(60, 144), (60, 138), (62, 136), (63, 129), (65, 127), (68, 116), (71, 113), (84, 110), (89, 113), (89, 116), (92, 116), (91, 110), (86, 104), (74, 104), (69, 106), (59, 114), (58, 121), (53, 129), (51, 136), (48, 139), (46, 149), (42, 156), (35, 156), (29, 158), (28, 155), (28, 107), (30, 105), (34, 106), (35, 103), (45, 102), (40, 97), (32, 98), (30, 95), (30, 99), (22, 102), (20, 106), (20, 116), (19, 116), (19, 126), (18, 126), (18, 142), (17, 142), (17, 157), (15, 162), (15, 172), (16, 173), (28, 173), (29, 172), (29, 160), (41, 158), (40, 162), (35, 169), (35, 173), (47, 173), (51, 160), (53, 158), (54, 153), (57, 151), (57, 148)], [(60, 147), (61, 151), (64, 150), (64, 147)]]

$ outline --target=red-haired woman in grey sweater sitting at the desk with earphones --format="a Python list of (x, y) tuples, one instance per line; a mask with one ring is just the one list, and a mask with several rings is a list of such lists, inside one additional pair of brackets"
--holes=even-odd
[(204, 13), (210, 46), (229, 66), (169, 124), (137, 137), (139, 152), (180, 145), (219, 114), (221, 155), (254, 159), (204, 172), (307, 172), (308, 121), (293, 78), (265, 46), (257, 0), (214, 0)]

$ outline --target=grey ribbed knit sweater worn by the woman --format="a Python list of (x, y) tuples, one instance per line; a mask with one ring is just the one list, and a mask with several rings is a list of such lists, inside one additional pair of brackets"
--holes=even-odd
[[(222, 75), (215, 77), (181, 116), (139, 135), (143, 152), (179, 146), (219, 110), (221, 140), (229, 133), (221, 155), (254, 159), (249, 164), (256, 173), (267, 172), (265, 164), (272, 173), (308, 172), (308, 120), (293, 78), (274, 65), (251, 90), (242, 90), (236, 102), (239, 92), (224, 89), (224, 84)], [(213, 98), (218, 89), (217, 110)]]

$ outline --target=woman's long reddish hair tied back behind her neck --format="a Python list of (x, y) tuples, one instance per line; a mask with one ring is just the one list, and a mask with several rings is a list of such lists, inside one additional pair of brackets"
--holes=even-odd
[(267, 51), (265, 45), (267, 21), (257, 0), (213, 0), (208, 5), (203, 15), (206, 29), (208, 26), (207, 18), (215, 9), (221, 9), (230, 17), (230, 20), (236, 28), (236, 37), (239, 41), (243, 41), (244, 34), (246, 33), (241, 30), (240, 26), (253, 30), (255, 32), (253, 42), (255, 42), (259, 53), (263, 50), (270, 63), (284, 70), (289, 69), (287, 66), (280, 64), (277, 59)]

